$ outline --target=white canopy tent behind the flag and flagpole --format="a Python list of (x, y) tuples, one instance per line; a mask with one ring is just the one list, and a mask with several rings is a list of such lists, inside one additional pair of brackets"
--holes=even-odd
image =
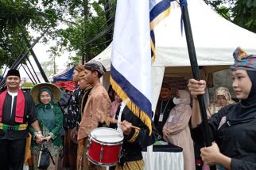
[[(233, 51), (242, 47), (249, 54), (256, 54), (256, 34), (247, 31), (230, 21), (220, 17), (203, 0), (188, 0), (193, 40), (199, 66), (203, 66), (204, 73), (228, 68), (233, 60)], [(181, 11), (177, 2), (172, 2), (169, 17), (166, 17), (155, 28), (156, 62), (152, 69), (152, 107), (156, 107), (161, 83), (165, 75), (191, 74), (185, 32), (181, 36)], [(95, 57), (110, 70), (111, 46)], [(108, 76), (103, 77), (105, 85)]]

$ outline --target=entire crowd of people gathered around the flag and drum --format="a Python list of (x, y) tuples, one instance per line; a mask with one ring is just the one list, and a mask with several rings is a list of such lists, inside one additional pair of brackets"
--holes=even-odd
[[(149, 135), (149, 127), (127, 107), (129, 99), (122, 100), (114, 93), (111, 100), (100, 82), (106, 72), (100, 62), (75, 67), (73, 81), (77, 86), (63, 104), (58, 104), (64, 96), (58, 86), (40, 83), (30, 94), (25, 93), (19, 89), (19, 71), (9, 70), (7, 89), (0, 94), (0, 167), (23, 169), (29, 147), (31, 169), (39, 169), (41, 151), (46, 147), (51, 157), (47, 169), (106, 169), (87, 153), (91, 131), (110, 127), (123, 138), (120, 159), (107, 164), (111, 170), (142, 170), (142, 149), (157, 140), (183, 149), (184, 170), (209, 169), (209, 165), (217, 169), (256, 169), (256, 56), (237, 48), (234, 59), (232, 87), (239, 102), (232, 100), (227, 88), (215, 90), (207, 108), (212, 142), (209, 147), (204, 146), (197, 100), (205, 93), (204, 80), (190, 79), (188, 90), (163, 83)], [(62, 164), (58, 164), (60, 155)], [(196, 159), (201, 160), (201, 167), (196, 166)]]

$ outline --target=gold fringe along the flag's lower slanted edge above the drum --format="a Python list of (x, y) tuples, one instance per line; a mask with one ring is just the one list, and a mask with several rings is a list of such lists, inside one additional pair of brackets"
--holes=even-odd
[[(122, 88), (114, 81), (113, 77), (110, 77), (112, 88), (116, 93), (118, 93), (118, 96), (124, 101), (126, 99), (130, 99), (127, 94), (122, 90)], [(133, 111), (134, 115), (136, 115), (139, 119), (142, 120), (143, 123), (147, 127), (149, 127), (149, 136), (152, 133), (152, 124), (151, 124), (151, 118), (149, 118), (149, 115), (147, 115), (144, 111), (142, 111), (138, 106), (136, 106), (131, 100), (128, 100), (127, 107), (130, 108), (131, 111)]]

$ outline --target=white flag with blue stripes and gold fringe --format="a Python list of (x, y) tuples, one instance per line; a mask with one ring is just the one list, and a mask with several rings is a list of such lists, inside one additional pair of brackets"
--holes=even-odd
[[(118, 0), (111, 53), (111, 85), (152, 132), (153, 27), (169, 14), (170, 0)], [(153, 37), (153, 40), (152, 40)], [(154, 46), (153, 46), (154, 47)]]

